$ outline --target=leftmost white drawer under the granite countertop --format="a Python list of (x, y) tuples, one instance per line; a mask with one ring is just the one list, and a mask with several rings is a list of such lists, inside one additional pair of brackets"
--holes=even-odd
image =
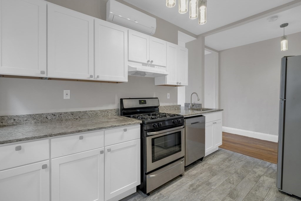
[(0, 170), (49, 159), (49, 140), (0, 147)]

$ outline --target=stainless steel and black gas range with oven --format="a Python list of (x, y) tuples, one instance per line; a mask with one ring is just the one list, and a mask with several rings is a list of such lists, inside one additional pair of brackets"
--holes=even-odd
[(158, 98), (120, 99), (120, 115), (142, 121), (140, 189), (147, 195), (184, 172), (184, 117), (159, 105)]

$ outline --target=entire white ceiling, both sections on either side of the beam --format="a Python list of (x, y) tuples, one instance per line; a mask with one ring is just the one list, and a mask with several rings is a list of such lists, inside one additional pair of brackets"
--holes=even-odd
[[(166, 0), (124, 0), (196, 35), (228, 25), (238, 20), (267, 11), (293, 0), (208, 0), (207, 23), (199, 25), (189, 19), (189, 11), (178, 13), (178, 1), (173, 8), (166, 7)], [(223, 50), (250, 44), (283, 34), (280, 24), (289, 23), (285, 34), (301, 31), (301, 8), (291, 8), (278, 14), (278, 20), (268, 22), (267, 17), (205, 37), (205, 45)], [(225, 42), (226, 41), (226, 42)]]

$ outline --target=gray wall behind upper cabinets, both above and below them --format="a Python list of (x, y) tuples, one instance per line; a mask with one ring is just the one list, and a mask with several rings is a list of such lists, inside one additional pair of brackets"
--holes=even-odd
[[(48, 0), (48, 2), (106, 20), (107, 0)], [(141, 10), (157, 19), (154, 37), (178, 43), (178, 30), (196, 35)], [(63, 90), (70, 89), (71, 99), (63, 99)], [(167, 99), (170, 93), (170, 99)], [(0, 115), (44, 112), (82, 111), (119, 108), (120, 98), (158, 97), (160, 105), (177, 104), (177, 87), (154, 86), (154, 78), (129, 76), (128, 83), (90, 83), (58, 80), (0, 78)]]

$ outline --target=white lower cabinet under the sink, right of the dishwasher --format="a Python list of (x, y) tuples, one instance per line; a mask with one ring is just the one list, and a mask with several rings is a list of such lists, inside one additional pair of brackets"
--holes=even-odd
[(205, 121), (205, 156), (218, 150), (222, 145), (222, 112), (204, 114)]

